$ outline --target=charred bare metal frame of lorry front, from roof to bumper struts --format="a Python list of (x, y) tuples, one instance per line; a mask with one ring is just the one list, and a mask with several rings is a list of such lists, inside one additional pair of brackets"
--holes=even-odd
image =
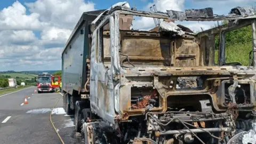
[[(92, 44), (91, 44), (91, 71), (90, 71), (90, 103), (92, 113), (97, 114), (101, 119), (98, 119), (96, 123), (103, 123), (103, 129), (107, 127), (109, 131), (118, 131), (119, 125), (129, 124), (133, 121), (132, 118), (137, 119), (135, 125), (139, 125), (138, 134), (134, 138), (133, 142), (142, 142), (150, 141), (152, 143), (157, 143), (158, 138), (162, 137), (164, 140), (165, 137), (170, 137), (171, 135), (175, 137), (175, 134), (193, 134), (193, 137), (196, 137), (199, 141), (204, 143), (195, 133), (208, 133), (211, 138), (214, 140), (223, 140), (227, 135), (234, 134), (236, 127), (236, 113), (233, 114), (232, 111), (248, 111), (254, 115), (253, 108), (256, 105), (256, 96), (255, 96), (255, 82), (256, 82), (256, 68), (254, 67), (255, 58), (253, 57), (253, 67), (246, 66), (222, 66), (225, 64), (225, 34), (237, 28), (241, 28), (247, 25), (252, 25), (253, 30), (253, 50), (256, 49), (256, 16), (245, 16), (245, 15), (229, 15), (217, 16), (214, 17), (211, 13), (211, 9), (198, 10), (195, 13), (199, 12), (199, 17), (194, 17), (195, 13), (191, 10), (186, 11), (189, 14), (182, 14), (174, 11), (167, 11), (167, 13), (160, 12), (143, 12), (143, 11), (133, 11), (124, 9), (123, 7), (116, 7), (107, 12), (107, 15), (104, 16), (102, 20), (95, 21), (95, 25), (92, 26)], [(203, 13), (200, 13), (202, 12)], [(255, 11), (256, 12), (256, 11)], [(233, 23), (229, 23), (228, 26), (220, 26), (217, 28), (209, 29), (202, 31), (198, 34), (185, 34), (181, 35), (182, 38), (185, 36), (193, 37), (193, 40), (198, 43), (198, 39), (202, 36), (210, 36), (210, 53), (209, 55), (209, 65), (202, 64), (205, 61), (201, 61), (201, 65), (192, 67), (174, 67), (174, 66), (149, 66), (149, 67), (132, 67), (124, 68), (121, 66), (121, 35), (119, 30), (119, 15), (138, 15), (141, 17), (151, 17), (158, 19), (170, 19), (174, 18), (170, 13), (176, 13), (174, 15), (178, 20), (191, 20), (191, 21), (214, 21), (214, 20), (223, 20), (228, 19)], [(188, 15), (190, 15), (188, 17)], [(194, 15), (194, 16), (193, 16)], [(105, 67), (103, 62), (97, 61), (99, 57), (99, 49), (102, 46), (99, 39), (99, 30), (109, 21), (110, 27), (110, 59), (111, 66)], [(242, 23), (242, 24), (241, 24)], [(214, 55), (213, 50), (213, 40), (216, 34), (220, 34), (220, 52), (219, 55), (219, 66), (213, 65), (214, 60), (212, 61), (212, 55)], [(190, 37), (190, 38), (191, 38)], [(206, 44), (205, 44), (206, 45)], [(204, 49), (204, 48), (203, 48)], [(205, 48), (206, 49), (206, 48)], [(255, 55), (255, 53), (253, 54)], [(214, 57), (214, 56), (213, 56)], [(204, 83), (201, 89), (183, 89), (177, 90), (175, 85), (177, 84), (178, 77), (190, 77), (198, 76), (204, 77)], [(161, 79), (162, 78), (162, 79)], [(173, 81), (173, 85), (166, 85), (163, 79), (166, 78), (169, 82)], [(234, 95), (234, 91), (239, 84), (250, 85), (250, 103), (245, 103), (245, 105), (239, 105), (233, 109), (232, 106), (225, 106), (225, 84), (230, 83), (231, 86), (228, 87), (229, 95)], [(132, 97), (132, 87), (154, 87), (159, 93), (159, 105), (151, 109), (146, 108), (131, 108), (131, 97)], [(171, 87), (170, 87), (171, 86)], [(246, 89), (246, 91), (248, 91)], [(231, 94), (230, 94), (231, 93)], [(171, 100), (170, 100), (170, 99)], [(173, 100), (175, 98), (175, 100)], [(176, 100), (176, 98), (180, 98)], [(187, 99), (188, 98), (188, 99)], [(169, 100), (168, 100), (169, 99)], [(172, 101), (180, 105), (179, 108), (183, 109), (182, 102), (192, 103), (195, 105), (195, 101), (198, 103), (198, 106), (201, 110), (191, 110), (191, 111), (171, 111), (168, 107)], [(191, 102), (191, 101), (193, 102)], [(181, 102), (180, 102), (181, 101)], [(236, 102), (233, 100), (233, 102)], [(210, 104), (210, 105), (209, 105)], [(171, 103), (172, 105), (172, 103)], [(174, 105), (175, 108), (175, 105)], [(143, 118), (146, 117), (147, 124), (141, 122), (138, 117), (143, 115)], [(140, 117), (141, 118), (141, 117)], [(138, 122), (140, 121), (140, 122)], [(241, 120), (242, 121), (242, 120)], [(107, 123), (106, 123), (107, 122)], [(195, 126), (191, 123), (196, 122), (198, 125), (200, 122), (211, 123), (216, 122), (211, 125), (211, 128), (207, 126)], [(222, 125), (222, 122), (225, 123)], [(146, 132), (141, 131), (140, 124), (146, 124)], [(165, 130), (164, 126), (170, 126), (171, 123), (179, 123), (186, 130), (179, 130), (180, 128), (168, 129)], [(208, 124), (209, 124), (208, 123)], [(250, 122), (248, 122), (250, 123)], [(86, 137), (93, 137), (92, 133), (92, 124), (94, 122), (84, 123), (85, 131), (88, 135)], [(170, 124), (170, 125), (169, 125)], [(242, 123), (243, 124), (243, 123)], [(223, 127), (221, 127), (221, 126)], [(111, 127), (112, 129), (109, 129)], [(118, 127), (118, 128), (117, 128)], [(129, 126), (130, 127), (130, 126)], [(193, 127), (190, 129), (189, 127)], [(102, 127), (101, 127), (102, 128)], [(126, 129), (127, 127), (121, 127)], [(145, 127), (144, 127), (145, 128)], [(170, 129), (169, 129), (170, 128)], [(239, 127), (240, 129), (245, 129), (244, 127)], [(239, 129), (238, 128), (238, 129)], [(119, 130), (118, 130), (119, 129)], [(126, 130), (124, 130), (126, 131)], [(217, 133), (215, 133), (217, 132)], [(220, 135), (221, 132), (223, 135)], [(126, 134), (128, 130), (126, 131)], [(134, 132), (135, 133), (135, 132)], [(141, 138), (141, 134), (145, 134), (149, 138)], [(214, 134), (213, 134), (214, 133)], [(125, 134), (125, 135), (126, 135)], [(148, 135), (147, 135), (148, 134)], [(151, 134), (155, 139), (150, 139)], [(137, 136), (138, 135), (138, 136)], [(144, 135), (144, 136), (145, 136)], [(133, 137), (133, 136), (132, 136)], [(200, 137), (200, 138), (199, 138)], [(120, 136), (121, 138), (121, 136)], [(124, 141), (126, 140), (127, 135), (124, 136)], [(170, 140), (170, 139), (169, 139)], [(168, 140), (168, 141), (169, 141)], [(194, 138), (193, 138), (194, 140)], [(209, 140), (211, 141), (211, 140)]]

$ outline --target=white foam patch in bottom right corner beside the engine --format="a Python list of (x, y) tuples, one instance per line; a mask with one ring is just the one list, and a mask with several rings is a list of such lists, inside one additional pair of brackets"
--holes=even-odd
[(243, 134), (243, 144), (256, 143), (256, 121), (254, 121), (252, 127), (252, 130)]

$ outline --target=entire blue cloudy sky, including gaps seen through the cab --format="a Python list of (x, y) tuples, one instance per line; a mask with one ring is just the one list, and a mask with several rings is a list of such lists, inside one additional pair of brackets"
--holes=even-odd
[[(61, 51), (81, 14), (107, 9), (123, 1), (111, 0), (1, 0), (0, 70), (61, 69)], [(215, 14), (227, 14), (235, 6), (256, 6), (255, 0), (131, 0), (130, 6), (149, 11), (202, 9), (213, 7)], [(191, 30), (208, 29), (213, 22), (181, 22)], [(134, 27), (154, 27), (153, 19), (138, 19)]]

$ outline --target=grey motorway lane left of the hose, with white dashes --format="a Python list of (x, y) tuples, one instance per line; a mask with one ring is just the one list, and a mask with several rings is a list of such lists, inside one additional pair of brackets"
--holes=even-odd
[[(49, 119), (60, 94), (38, 94), (34, 93), (35, 89), (30, 87), (0, 97), (1, 143), (61, 143)], [(25, 96), (30, 97), (28, 104), (21, 106)], [(29, 110), (31, 113), (27, 113)]]

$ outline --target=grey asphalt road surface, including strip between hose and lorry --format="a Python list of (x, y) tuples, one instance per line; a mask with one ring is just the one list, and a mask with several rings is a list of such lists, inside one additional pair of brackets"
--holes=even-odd
[[(35, 86), (18, 92), (0, 95), (1, 143), (61, 143), (50, 122), (58, 129), (65, 143), (83, 143), (74, 131), (74, 118), (67, 116), (62, 108), (59, 93), (34, 93)], [(28, 104), (24, 104), (25, 97)]]

